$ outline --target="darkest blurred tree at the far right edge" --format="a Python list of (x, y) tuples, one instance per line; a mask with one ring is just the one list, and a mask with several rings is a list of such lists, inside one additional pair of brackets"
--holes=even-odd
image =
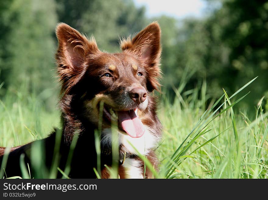
[[(228, 16), (228, 19), (224, 19)], [(229, 48), (229, 59), (224, 65), (224, 76), (234, 90), (253, 77), (259, 76), (249, 86), (251, 93), (246, 103), (256, 105), (266, 94), (268, 98), (268, 2), (224, 1), (223, 8), (216, 12), (220, 22), (220, 40)]]

